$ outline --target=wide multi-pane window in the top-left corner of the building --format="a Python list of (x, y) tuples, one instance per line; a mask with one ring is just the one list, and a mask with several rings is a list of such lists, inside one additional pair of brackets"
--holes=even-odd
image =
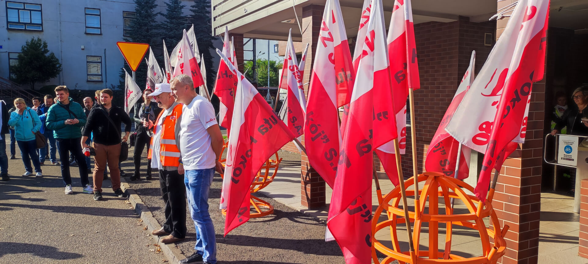
[(42, 31), (41, 5), (6, 2), (6, 22), (8, 29)]

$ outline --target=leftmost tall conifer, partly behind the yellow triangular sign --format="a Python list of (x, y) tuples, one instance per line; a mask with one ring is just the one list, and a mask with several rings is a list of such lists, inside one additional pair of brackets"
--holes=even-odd
[[(131, 24), (131, 31), (129, 37), (124, 38), (128, 42), (148, 43), (149, 46), (161, 45), (161, 38), (159, 38), (159, 24), (155, 22), (158, 13), (155, 12), (157, 4), (155, 0), (135, 0), (135, 14), (136, 19)], [(131, 67), (126, 64), (124, 68), (132, 75)], [(118, 88), (125, 89), (125, 72), (121, 70), (119, 75), (120, 83)], [(147, 65), (144, 62), (139, 64), (136, 71), (135, 82), (139, 87), (145, 87), (147, 77)]]

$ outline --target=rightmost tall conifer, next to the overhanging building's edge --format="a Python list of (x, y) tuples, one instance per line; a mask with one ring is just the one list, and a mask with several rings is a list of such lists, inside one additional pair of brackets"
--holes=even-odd
[(208, 92), (212, 92), (216, 77), (216, 69), (212, 67), (212, 54), (216, 55), (214, 46), (216, 36), (212, 36), (211, 11), (209, 10), (211, 1), (194, 0), (194, 4), (190, 7), (193, 21), (198, 21), (198, 25), (194, 26), (194, 36), (196, 36), (196, 41), (198, 42), (198, 50), (204, 55), (206, 86), (209, 89)]

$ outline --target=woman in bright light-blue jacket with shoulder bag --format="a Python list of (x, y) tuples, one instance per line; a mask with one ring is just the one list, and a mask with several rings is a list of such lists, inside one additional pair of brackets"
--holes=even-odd
[(16, 143), (21, 148), (22, 163), (25, 164), (26, 172), (23, 176), (33, 174), (31, 160), (35, 166), (35, 177), (43, 177), (41, 172), (41, 163), (39, 155), (36, 154), (35, 133), (41, 129), (41, 120), (36, 111), (27, 107), (25, 99), (17, 98), (14, 100), (16, 110), (10, 114), (8, 126), (14, 127)]

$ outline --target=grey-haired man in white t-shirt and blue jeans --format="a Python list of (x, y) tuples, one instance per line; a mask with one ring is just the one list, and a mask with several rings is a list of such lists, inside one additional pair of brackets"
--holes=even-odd
[(178, 75), (170, 84), (172, 96), (184, 104), (180, 129), (176, 130), (183, 163), (178, 171), (185, 171), (186, 196), (196, 228), (196, 252), (179, 263), (216, 264), (215, 227), (208, 213), (208, 194), (215, 169), (223, 170), (219, 162), (222, 134), (211, 102), (196, 93), (192, 77)]

